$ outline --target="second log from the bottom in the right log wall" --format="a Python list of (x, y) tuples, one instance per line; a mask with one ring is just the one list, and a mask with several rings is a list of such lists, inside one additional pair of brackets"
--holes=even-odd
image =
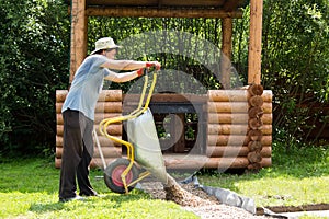
[[(247, 146), (236, 147), (236, 146), (227, 146), (227, 147), (213, 147), (208, 146), (206, 150), (206, 155), (209, 158), (235, 158), (235, 157), (247, 157), (249, 153), (249, 148)], [(269, 158), (272, 154), (271, 146), (263, 146), (260, 151), (261, 155), (264, 158)]]

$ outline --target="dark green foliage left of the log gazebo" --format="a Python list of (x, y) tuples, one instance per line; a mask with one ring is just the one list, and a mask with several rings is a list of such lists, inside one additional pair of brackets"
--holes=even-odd
[(0, 3), (0, 151), (39, 152), (35, 146), (54, 140), (55, 90), (67, 82), (67, 8), (46, 0)]

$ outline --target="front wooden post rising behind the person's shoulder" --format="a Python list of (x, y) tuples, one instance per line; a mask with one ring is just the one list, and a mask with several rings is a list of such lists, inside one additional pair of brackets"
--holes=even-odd
[(71, 83), (78, 67), (87, 54), (86, 0), (71, 1), (71, 49), (70, 49), (70, 79)]

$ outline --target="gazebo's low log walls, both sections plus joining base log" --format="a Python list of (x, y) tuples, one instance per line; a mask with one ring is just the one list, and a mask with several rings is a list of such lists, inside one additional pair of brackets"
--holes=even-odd
[[(60, 168), (63, 152), (61, 106), (66, 90), (56, 91), (56, 168)], [(102, 91), (95, 108), (95, 128), (103, 118), (120, 116), (123, 113), (121, 90)], [(166, 102), (166, 101), (164, 101)], [(205, 102), (206, 137), (201, 142), (205, 151), (189, 159), (184, 154), (163, 154), (168, 169), (218, 168), (249, 169), (271, 166), (272, 160), (272, 92), (261, 85), (246, 90), (209, 90)], [(109, 132), (122, 138), (122, 124), (109, 126)], [(100, 136), (106, 163), (123, 154), (121, 145)], [(95, 141), (94, 141), (95, 142)], [(102, 166), (100, 153), (94, 146), (91, 166)]]

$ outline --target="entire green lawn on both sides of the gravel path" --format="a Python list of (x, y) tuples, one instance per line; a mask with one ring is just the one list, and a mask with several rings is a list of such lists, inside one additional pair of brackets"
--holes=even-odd
[[(151, 199), (134, 189), (114, 194), (91, 171), (94, 188), (104, 197), (58, 203), (59, 170), (53, 159), (0, 161), (0, 218), (197, 218), (171, 201)], [(329, 149), (273, 143), (273, 166), (254, 174), (198, 174), (201, 184), (229, 188), (251, 197), (257, 206), (329, 204)]]

